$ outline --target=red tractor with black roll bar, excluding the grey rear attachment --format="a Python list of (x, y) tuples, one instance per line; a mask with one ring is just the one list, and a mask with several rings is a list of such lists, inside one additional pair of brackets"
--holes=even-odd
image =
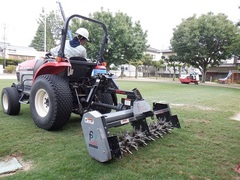
[[(97, 23), (103, 28), (101, 48), (95, 61), (64, 56), (68, 24), (72, 18)], [(110, 107), (117, 105), (117, 97), (107, 89), (118, 87), (106, 73), (102, 62), (107, 36), (107, 28), (102, 22), (77, 14), (70, 16), (62, 29), (61, 47), (56, 59), (46, 57), (18, 65), (18, 82), (2, 91), (3, 112), (17, 115), (21, 104), (30, 104), (33, 121), (46, 130), (63, 127), (72, 112), (80, 115), (92, 109), (110, 112)]]

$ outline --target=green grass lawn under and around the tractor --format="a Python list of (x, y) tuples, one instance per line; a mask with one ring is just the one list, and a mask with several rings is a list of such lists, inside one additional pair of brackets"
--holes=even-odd
[[(239, 89), (167, 82), (117, 81), (120, 89), (138, 88), (150, 104), (167, 102), (182, 129), (100, 163), (88, 155), (80, 117), (72, 115), (60, 131), (38, 128), (29, 105), (18, 116), (0, 110), (0, 158), (22, 158), (30, 168), (3, 179), (240, 179)], [(0, 90), (11, 80), (0, 80)], [(148, 120), (151, 121), (151, 120)], [(123, 126), (122, 128), (129, 128)], [(115, 128), (118, 131), (118, 128)]]

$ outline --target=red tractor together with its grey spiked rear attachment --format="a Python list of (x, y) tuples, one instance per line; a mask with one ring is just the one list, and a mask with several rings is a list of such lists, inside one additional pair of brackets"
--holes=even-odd
[[(72, 18), (82, 18), (103, 28), (95, 61), (65, 57), (68, 24)], [(19, 64), (18, 82), (2, 90), (3, 112), (17, 115), (21, 104), (30, 104), (33, 121), (45, 130), (60, 129), (66, 125), (71, 113), (79, 114), (88, 152), (101, 162), (120, 158), (125, 152), (131, 153), (132, 149), (147, 145), (146, 141), (171, 133), (174, 127), (180, 128), (178, 117), (171, 114), (168, 104), (153, 103), (152, 110), (137, 88), (131, 91), (118, 88), (103, 66), (107, 36), (107, 28), (102, 22), (77, 14), (70, 16), (62, 29), (56, 59), (46, 57)], [(117, 94), (123, 97), (120, 103)], [(147, 118), (154, 119), (154, 116), (157, 121), (148, 125)], [(108, 130), (129, 123), (134, 131), (120, 137)]]

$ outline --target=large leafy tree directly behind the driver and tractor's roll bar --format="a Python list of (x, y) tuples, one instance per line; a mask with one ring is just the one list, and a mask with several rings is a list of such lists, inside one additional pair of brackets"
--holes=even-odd
[[(117, 66), (142, 58), (143, 52), (147, 49), (147, 32), (142, 30), (139, 21), (133, 23), (127, 14), (121, 12), (113, 14), (103, 9), (90, 14), (90, 17), (107, 25), (109, 42), (104, 53), (104, 61), (108, 67), (111, 64)], [(90, 32), (92, 43), (87, 44), (87, 52), (88, 57), (94, 59), (100, 47), (103, 31), (96, 24), (86, 21), (73, 21), (71, 24), (72, 29), (79, 26), (84, 26)]]

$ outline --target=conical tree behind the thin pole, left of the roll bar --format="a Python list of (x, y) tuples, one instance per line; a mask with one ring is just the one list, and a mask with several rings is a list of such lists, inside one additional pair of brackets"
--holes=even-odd
[[(44, 51), (44, 29), (45, 29), (45, 15), (40, 14), (38, 19), (38, 29), (30, 44), (30, 47), (34, 47), (37, 51)], [(60, 40), (59, 30), (63, 27), (63, 20), (58, 13), (51, 11), (46, 14), (46, 50), (49, 51), (55, 47)]]

